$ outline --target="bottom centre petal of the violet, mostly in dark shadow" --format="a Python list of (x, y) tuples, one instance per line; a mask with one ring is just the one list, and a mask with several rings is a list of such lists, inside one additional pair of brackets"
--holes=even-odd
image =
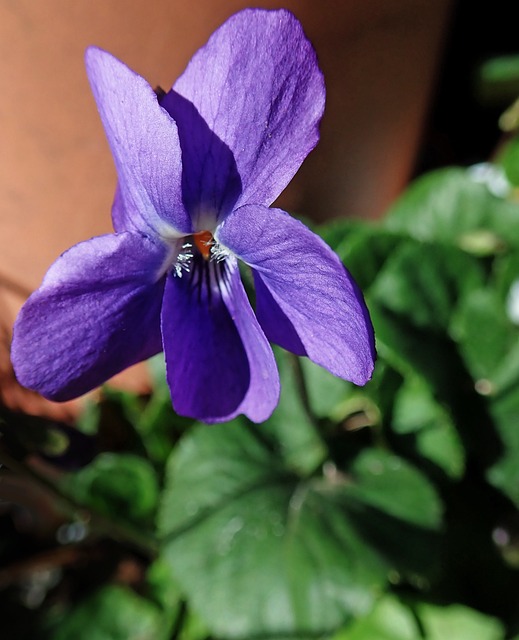
[(187, 277), (168, 277), (162, 335), (173, 406), (209, 423), (240, 413), (262, 422), (279, 398), (274, 355), (236, 261), (222, 265), (211, 262)]

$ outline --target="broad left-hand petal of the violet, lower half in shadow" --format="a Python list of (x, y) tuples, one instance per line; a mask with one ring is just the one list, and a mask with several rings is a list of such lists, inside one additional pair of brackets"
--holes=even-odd
[(20, 383), (69, 400), (161, 351), (166, 251), (127, 232), (58, 258), (15, 323), (11, 358)]

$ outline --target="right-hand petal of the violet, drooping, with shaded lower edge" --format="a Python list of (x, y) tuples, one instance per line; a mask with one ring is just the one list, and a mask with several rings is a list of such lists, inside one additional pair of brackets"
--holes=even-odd
[(270, 340), (303, 349), (355, 384), (369, 380), (375, 347), (366, 305), (319, 236), (284, 211), (244, 206), (226, 218), (217, 240), (254, 269), (256, 315)]

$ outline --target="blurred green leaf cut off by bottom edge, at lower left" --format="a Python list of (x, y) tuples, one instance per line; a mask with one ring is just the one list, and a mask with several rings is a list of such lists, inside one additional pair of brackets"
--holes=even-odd
[(159, 610), (129, 589), (106, 586), (51, 623), (51, 640), (166, 640)]

